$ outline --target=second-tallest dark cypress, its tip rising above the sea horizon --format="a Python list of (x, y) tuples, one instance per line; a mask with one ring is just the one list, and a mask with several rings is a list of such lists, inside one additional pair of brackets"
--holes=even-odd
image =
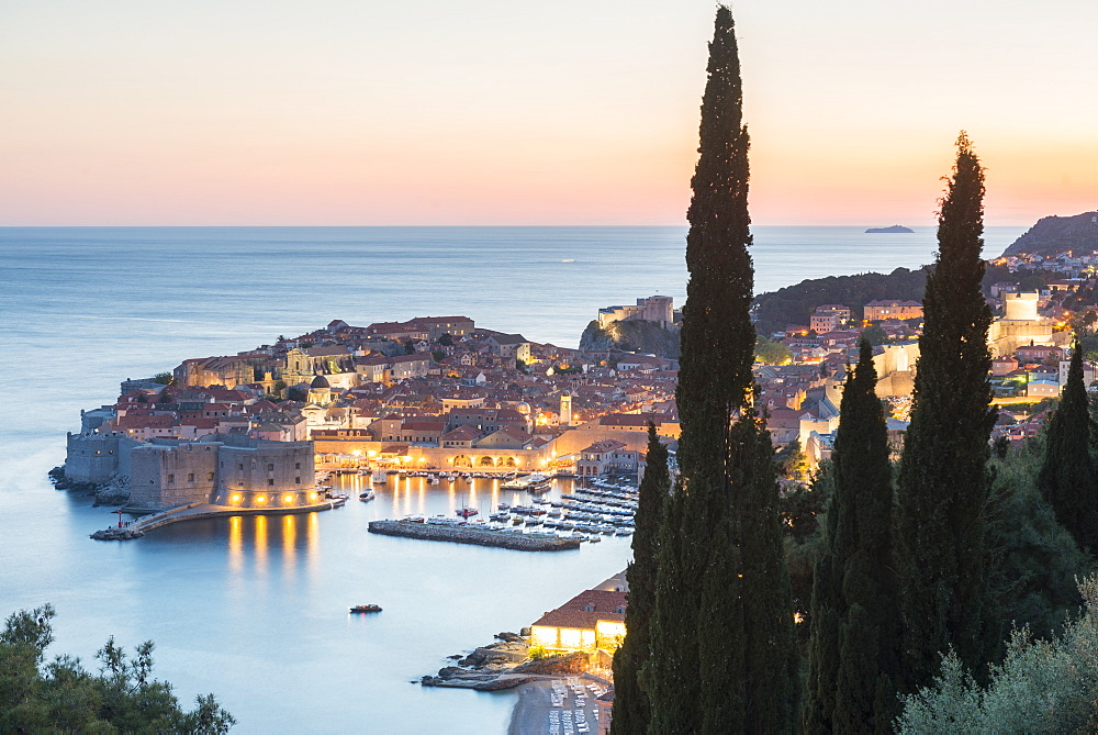
[(927, 279), (911, 424), (897, 481), (896, 566), (904, 623), (901, 689), (930, 682), (952, 646), (984, 671), (994, 645), (985, 510), (995, 421), (987, 372), (991, 310), (981, 292), (984, 169), (965, 133), (938, 218)]

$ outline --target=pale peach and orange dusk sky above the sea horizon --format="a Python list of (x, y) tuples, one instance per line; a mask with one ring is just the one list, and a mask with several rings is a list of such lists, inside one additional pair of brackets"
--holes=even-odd
[[(715, 4), (5, 0), (0, 225), (681, 224)], [(1098, 3), (743, 0), (757, 224), (1098, 209)]]

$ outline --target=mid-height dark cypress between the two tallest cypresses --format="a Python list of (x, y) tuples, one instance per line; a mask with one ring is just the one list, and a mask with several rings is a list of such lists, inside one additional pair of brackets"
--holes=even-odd
[(900, 631), (892, 548), (892, 465), (862, 341), (831, 455), (834, 489), (811, 603), (806, 733), (889, 733), (899, 714)]

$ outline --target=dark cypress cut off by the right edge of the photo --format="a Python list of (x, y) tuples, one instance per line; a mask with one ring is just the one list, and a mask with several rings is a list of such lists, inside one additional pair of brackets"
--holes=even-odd
[(1090, 457), (1094, 432), (1078, 341), (1073, 349), (1060, 405), (1049, 420), (1038, 486), (1076, 543), (1098, 553), (1098, 472)]

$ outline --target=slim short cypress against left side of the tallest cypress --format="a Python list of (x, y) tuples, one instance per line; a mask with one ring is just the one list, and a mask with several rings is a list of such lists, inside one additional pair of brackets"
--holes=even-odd
[(648, 660), (649, 625), (656, 606), (656, 569), (663, 504), (671, 489), (668, 448), (656, 435), (656, 424), (648, 424), (648, 460), (640, 481), (637, 502), (637, 530), (632, 534), (632, 561), (626, 570), (629, 581), (629, 606), (625, 613), (626, 636), (614, 654), (614, 735), (648, 731), (648, 695), (637, 675)]

